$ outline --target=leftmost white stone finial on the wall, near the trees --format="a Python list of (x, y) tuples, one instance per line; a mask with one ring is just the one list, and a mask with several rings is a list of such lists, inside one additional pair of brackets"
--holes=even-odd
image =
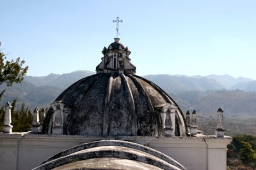
[(5, 104), (5, 112), (4, 112), (4, 124), (3, 124), (3, 133), (12, 133), (12, 113), (11, 113), (12, 105), (7, 102)]

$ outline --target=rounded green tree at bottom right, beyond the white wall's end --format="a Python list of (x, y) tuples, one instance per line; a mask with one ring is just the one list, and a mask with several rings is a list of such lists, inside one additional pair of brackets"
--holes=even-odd
[(243, 164), (250, 164), (256, 162), (256, 153), (252, 149), (252, 145), (250, 143), (242, 141), (243, 148), (240, 150), (240, 159)]

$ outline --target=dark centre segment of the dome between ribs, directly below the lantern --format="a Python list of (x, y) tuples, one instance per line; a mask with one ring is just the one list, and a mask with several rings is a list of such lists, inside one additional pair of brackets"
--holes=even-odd
[(121, 74), (113, 75), (108, 103), (109, 114), (111, 114), (109, 115), (108, 135), (137, 136), (136, 128), (132, 127), (136, 115), (131, 106), (131, 94), (125, 80)]

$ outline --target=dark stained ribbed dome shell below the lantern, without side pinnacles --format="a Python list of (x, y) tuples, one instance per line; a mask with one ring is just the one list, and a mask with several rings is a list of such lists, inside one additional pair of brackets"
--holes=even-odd
[[(163, 136), (156, 106), (177, 104), (151, 81), (132, 74), (94, 74), (77, 81), (56, 101), (65, 108), (63, 134), (84, 136)], [(186, 136), (184, 116), (177, 106), (175, 136)], [(52, 134), (49, 109), (44, 134)]]

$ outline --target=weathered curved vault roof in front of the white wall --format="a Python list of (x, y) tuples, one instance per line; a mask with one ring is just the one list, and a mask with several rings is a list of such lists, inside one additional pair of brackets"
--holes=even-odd
[[(73, 162), (77, 163), (73, 164)], [(75, 146), (45, 160), (35, 169), (78, 168), (77, 166), (90, 169), (92, 167), (87, 167), (88, 165), (95, 168), (95, 166), (102, 166), (102, 162), (105, 162), (104, 165), (111, 166), (109, 169), (124, 166), (125, 162), (130, 162), (131, 165), (133, 162), (141, 169), (186, 169), (179, 162), (157, 150), (136, 143), (116, 140), (95, 141)], [(136, 166), (127, 164), (125, 169), (136, 169)]]

